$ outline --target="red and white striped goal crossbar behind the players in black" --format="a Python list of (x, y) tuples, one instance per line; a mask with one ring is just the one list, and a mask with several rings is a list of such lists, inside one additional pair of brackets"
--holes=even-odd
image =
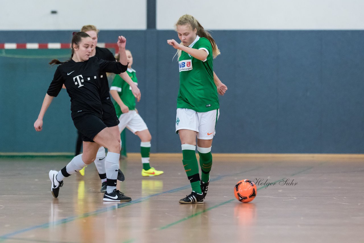
[[(114, 48), (119, 52), (116, 43), (97, 43), (98, 47)], [(0, 43), (0, 49), (70, 49), (70, 43)]]

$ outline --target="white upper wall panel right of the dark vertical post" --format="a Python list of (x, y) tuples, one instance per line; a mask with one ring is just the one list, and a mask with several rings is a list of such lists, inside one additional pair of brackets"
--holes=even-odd
[(186, 13), (210, 30), (363, 30), (363, 0), (157, 0), (157, 29)]

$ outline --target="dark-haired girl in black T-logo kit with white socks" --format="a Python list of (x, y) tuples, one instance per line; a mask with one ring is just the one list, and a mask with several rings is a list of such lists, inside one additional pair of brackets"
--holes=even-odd
[[(131, 201), (130, 197), (116, 190), (116, 178), (119, 170), (120, 143), (112, 134), (110, 128), (102, 122), (102, 103), (100, 100), (100, 72), (120, 74), (127, 69), (125, 53), (126, 38), (118, 37), (120, 62), (111, 62), (96, 57), (90, 58), (92, 39), (85, 32), (77, 32), (72, 38), (72, 56), (67, 62), (61, 63), (54, 59), (50, 64), (61, 64), (55, 71), (53, 81), (44, 97), (38, 119), (34, 123), (36, 131), (41, 131), (43, 117), (54, 97), (62, 86), (67, 89), (71, 98), (71, 117), (76, 129), (85, 137), (83, 139), (83, 154), (75, 156), (60, 171), (50, 171), (52, 181), (51, 192), (58, 197), (59, 188), (63, 185), (64, 177), (68, 177), (84, 166), (91, 164), (101, 146), (108, 149), (106, 156), (107, 190), (104, 201)], [(116, 118), (117, 119), (117, 118)], [(86, 140), (86, 141), (85, 141)]]

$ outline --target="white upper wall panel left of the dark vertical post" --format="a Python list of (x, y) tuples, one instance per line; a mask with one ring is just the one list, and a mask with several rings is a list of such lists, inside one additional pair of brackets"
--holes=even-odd
[(145, 30), (146, 1), (0, 0), (0, 30)]

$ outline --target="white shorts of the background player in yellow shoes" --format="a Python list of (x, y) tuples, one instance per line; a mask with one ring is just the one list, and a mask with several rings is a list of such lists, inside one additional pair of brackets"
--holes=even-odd
[(143, 118), (135, 110), (129, 110), (129, 112), (121, 114), (119, 121), (120, 123), (118, 126), (120, 133), (125, 128), (129, 129), (132, 133), (141, 132), (148, 129)]

